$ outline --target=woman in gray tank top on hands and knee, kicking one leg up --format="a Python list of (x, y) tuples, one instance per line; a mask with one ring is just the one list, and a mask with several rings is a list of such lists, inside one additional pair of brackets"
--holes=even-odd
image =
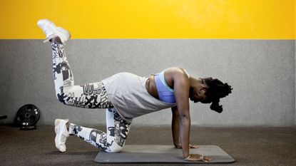
[(55, 142), (58, 150), (65, 152), (66, 139), (69, 135), (76, 135), (106, 152), (120, 152), (133, 118), (171, 108), (173, 143), (175, 147), (182, 148), (183, 159), (212, 160), (203, 155), (189, 154), (189, 148), (196, 147), (189, 144), (189, 99), (195, 103), (212, 103), (210, 108), (221, 113), (223, 108), (219, 100), (231, 93), (230, 85), (213, 78), (193, 78), (182, 68), (168, 68), (149, 78), (118, 73), (98, 83), (74, 85), (64, 51), (70, 33), (46, 19), (39, 20), (37, 24), (46, 34), (46, 41), (51, 41), (58, 100), (81, 108), (106, 108), (106, 133), (56, 119)]

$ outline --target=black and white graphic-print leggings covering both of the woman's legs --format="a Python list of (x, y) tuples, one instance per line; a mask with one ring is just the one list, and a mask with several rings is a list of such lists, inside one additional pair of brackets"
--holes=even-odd
[(70, 123), (69, 132), (106, 152), (120, 152), (126, 142), (131, 123), (123, 120), (113, 108), (102, 82), (74, 85), (64, 46), (51, 43), (53, 51), (53, 80), (56, 97), (65, 105), (80, 108), (106, 108), (107, 132)]

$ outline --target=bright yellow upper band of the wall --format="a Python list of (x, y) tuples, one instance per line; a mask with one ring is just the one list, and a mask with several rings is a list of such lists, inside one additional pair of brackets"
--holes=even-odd
[(295, 0), (0, 0), (0, 38), (44, 38), (51, 19), (72, 38), (295, 39)]

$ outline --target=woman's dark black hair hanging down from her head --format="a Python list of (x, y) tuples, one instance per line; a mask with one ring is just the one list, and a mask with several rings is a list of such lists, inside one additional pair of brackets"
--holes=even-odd
[(203, 81), (208, 85), (205, 95), (208, 100), (212, 101), (210, 109), (215, 110), (217, 113), (222, 113), (222, 105), (219, 105), (220, 98), (230, 94), (233, 88), (228, 83), (223, 83), (217, 78), (203, 78)]

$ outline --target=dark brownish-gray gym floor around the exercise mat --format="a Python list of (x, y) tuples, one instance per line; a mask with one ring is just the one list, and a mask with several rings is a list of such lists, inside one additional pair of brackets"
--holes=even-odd
[[(104, 130), (103, 127), (96, 128)], [(53, 126), (38, 126), (37, 130), (31, 131), (0, 126), (0, 165), (101, 165), (93, 162), (98, 153), (95, 147), (71, 136), (66, 142), (67, 152), (61, 153), (56, 150), (54, 136)], [(296, 165), (296, 128), (192, 127), (191, 143), (223, 148), (236, 160), (235, 163), (223, 166)], [(126, 144), (172, 145), (170, 128), (132, 126)]]

